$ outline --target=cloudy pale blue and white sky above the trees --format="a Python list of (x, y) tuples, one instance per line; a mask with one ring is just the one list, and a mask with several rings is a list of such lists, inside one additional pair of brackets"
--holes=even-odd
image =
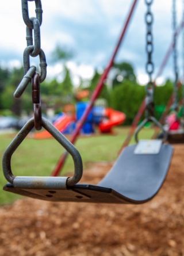
[[(47, 58), (47, 77), (57, 77), (62, 72), (62, 64), (53, 62), (52, 52), (60, 45), (74, 53), (67, 63), (76, 83), (79, 77), (90, 78), (94, 69), (102, 71), (108, 66), (118, 37), (127, 19), (133, 0), (42, 0), (43, 23), (41, 25), (41, 48)], [(154, 53), (152, 56), (155, 72), (171, 44), (172, 0), (155, 0), (152, 4), (154, 14), (153, 34)], [(182, 0), (177, 2), (177, 24), (182, 21)], [(22, 20), (21, 1), (1, 0), (0, 3), (0, 65), (14, 67), (22, 65), (26, 48), (26, 25)], [(29, 2), (29, 17), (35, 16), (35, 3)], [(135, 69), (138, 81), (147, 82), (145, 63), (145, 12), (144, 0), (138, 0), (131, 22), (116, 62), (129, 62)], [(178, 37), (179, 77), (183, 77), (182, 33)], [(38, 58), (30, 58), (31, 64)], [(33, 63), (32, 63), (33, 62)], [(173, 56), (167, 63), (162, 77), (174, 78)]]

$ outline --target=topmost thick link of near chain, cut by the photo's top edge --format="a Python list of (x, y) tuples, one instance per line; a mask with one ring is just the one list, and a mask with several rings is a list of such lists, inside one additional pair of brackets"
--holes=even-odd
[[(23, 17), (23, 20), (24, 20), (26, 26), (28, 26), (28, 28), (33, 29), (33, 22), (29, 18), (29, 10), (28, 10), (28, 1), (30, 1), (30, 0), (21, 0), (21, 1), (22, 1), (22, 17)], [(36, 18), (39, 21), (40, 26), (41, 26), (42, 13), (43, 13), (43, 10), (42, 10), (42, 7), (41, 7), (41, 0), (33, 0), (33, 1), (35, 2), (35, 6), (36, 6), (36, 10), (35, 10)], [(33, 2), (33, 1), (30, 1), (30, 2)]]

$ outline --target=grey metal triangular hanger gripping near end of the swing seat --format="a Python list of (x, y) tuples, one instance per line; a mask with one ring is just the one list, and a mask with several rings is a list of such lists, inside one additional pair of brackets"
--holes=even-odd
[[(15, 177), (11, 171), (11, 156), (13, 153), (17, 150), (18, 146), (23, 142), (25, 137), (29, 134), (29, 132), (34, 127), (34, 117), (30, 119), (24, 127), (21, 129), (21, 131), (17, 134), (17, 136), (13, 139), (13, 141), (10, 143), (9, 147), (6, 148), (6, 151), (3, 155), (2, 159), (2, 166), (3, 166), (3, 173), (5, 175), (5, 178), (7, 181), (10, 182), (10, 184), (13, 184), (16, 186), (16, 184), (20, 183), (22, 188), (28, 188), (28, 185), (32, 188), (46, 188), (46, 186), (49, 186), (48, 182), (52, 179), (54, 184), (51, 184), (52, 187), (58, 187), (60, 189), (66, 188), (67, 186), (74, 186), (79, 180), (82, 178), (82, 172), (83, 172), (83, 166), (82, 166), (82, 158), (79, 154), (78, 150), (76, 150), (75, 146), (69, 142), (69, 140), (62, 135), (47, 119), (44, 117), (41, 118), (41, 125), (49, 132), (51, 135), (59, 142), (72, 156), (72, 159), (74, 160), (74, 176), (72, 177), (22, 177), (17, 176)], [(58, 182), (57, 178), (63, 178), (63, 181)], [(22, 184), (23, 181), (23, 184)], [(51, 180), (52, 181), (52, 180)], [(64, 185), (63, 184), (66, 184)], [(50, 187), (51, 188), (51, 187)], [(59, 189), (58, 188), (58, 189)]]

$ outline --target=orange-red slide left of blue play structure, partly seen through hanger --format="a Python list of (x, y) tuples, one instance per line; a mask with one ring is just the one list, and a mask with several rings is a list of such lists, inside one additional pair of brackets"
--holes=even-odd
[[(70, 117), (67, 114), (63, 114), (61, 117), (59, 117), (59, 119), (55, 121), (55, 123), (53, 123), (53, 125), (57, 128), (58, 131), (63, 132), (73, 121), (73, 117)], [(35, 132), (33, 137), (34, 139), (47, 139), (52, 137), (52, 135), (48, 131), (44, 130), (41, 132)]]

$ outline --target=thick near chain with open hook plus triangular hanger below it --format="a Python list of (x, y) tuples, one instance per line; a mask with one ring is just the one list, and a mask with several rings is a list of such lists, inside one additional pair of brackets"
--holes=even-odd
[[(28, 1), (34, 1), (36, 4), (36, 18), (29, 18)], [(68, 186), (74, 186), (82, 178), (83, 165), (82, 158), (74, 145), (67, 140), (47, 119), (41, 116), (41, 98), (40, 83), (44, 81), (47, 75), (47, 63), (44, 51), (40, 48), (40, 25), (42, 22), (41, 0), (22, 0), (22, 16), (26, 24), (27, 47), (24, 50), (24, 77), (18, 85), (14, 97), (21, 97), (22, 93), (32, 81), (32, 102), (34, 107), (34, 117), (30, 119), (14, 140), (7, 147), (3, 155), (3, 173), (7, 181), (14, 188), (36, 188), (36, 189), (66, 189)], [(32, 30), (34, 30), (34, 45)], [(35, 66), (30, 66), (30, 56), (40, 57), (40, 75), (36, 72)], [(23, 142), (29, 132), (36, 128), (40, 130), (44, 127), (65, 150), (69, 152), (74, 161), (74, 175), (72, 177), (15, 177), (11, 171), (11, 156), (18, 146)]]

